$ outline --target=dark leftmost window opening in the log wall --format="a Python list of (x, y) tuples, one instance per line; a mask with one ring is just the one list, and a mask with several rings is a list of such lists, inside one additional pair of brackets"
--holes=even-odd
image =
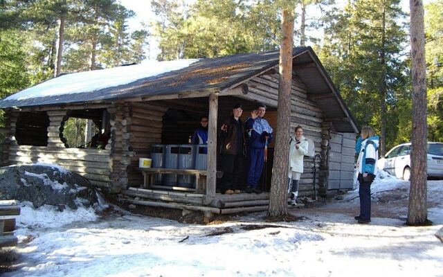
[(46, 111), (21, 112), (15, 125), (18, 145), (48, 145), (49, 116)]

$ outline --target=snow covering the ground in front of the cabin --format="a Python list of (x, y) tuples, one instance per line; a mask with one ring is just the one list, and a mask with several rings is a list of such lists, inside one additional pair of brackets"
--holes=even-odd
[[(383, 202), (390, 194), (397, 196)], [(320, 208), (291, 209), (304, 218), (298, 222), (250, 213), (205, 226), (125, 211), (105, 218), (85, 208), (35, 211), (24, 203), (16, 233), (35, 239), (17, 247), (19, 269), (4, 276), (443, 276), (443, 244), (435, 238), (443, 181), (428, 181), (433, 226), (404, 226), (405, 194), (408, 182), (376, 179), (370, 224), (353, 218), (356, 190)], [(245, 228), (259, 224), (272, 226)], [(233, 232), (209, 235), (225, 228)]]

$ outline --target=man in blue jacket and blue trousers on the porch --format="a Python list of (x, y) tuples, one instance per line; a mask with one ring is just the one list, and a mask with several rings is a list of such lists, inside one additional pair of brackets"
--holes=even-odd
[(246, 193), (262, 193), (257, 186), (264, 166), (264, 148), (273, 139), (273, 129), (268, 121), (263, 118), (265, 113), (266, 106), (258, 104), (255, 110), (251, 112), (251, 117), (246, 120), (248, 131), (248, 177), (246, 179), (248, 186), (246, 187)]

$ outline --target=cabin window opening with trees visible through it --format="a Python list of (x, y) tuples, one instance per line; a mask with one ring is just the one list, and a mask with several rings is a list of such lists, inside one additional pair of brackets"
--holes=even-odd
[(67, 148), (105, 149), (110, 136), (109, 114), (105, 109), (69, 111), (60, 129)]

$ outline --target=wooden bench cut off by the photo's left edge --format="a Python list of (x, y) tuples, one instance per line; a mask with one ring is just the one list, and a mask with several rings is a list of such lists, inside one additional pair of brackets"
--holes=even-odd
[(18, 239), (12, 233), (17, 215), (20, 215), (20, 207), (15, 200), (0, 200), (0, 248), (17, 245)]

